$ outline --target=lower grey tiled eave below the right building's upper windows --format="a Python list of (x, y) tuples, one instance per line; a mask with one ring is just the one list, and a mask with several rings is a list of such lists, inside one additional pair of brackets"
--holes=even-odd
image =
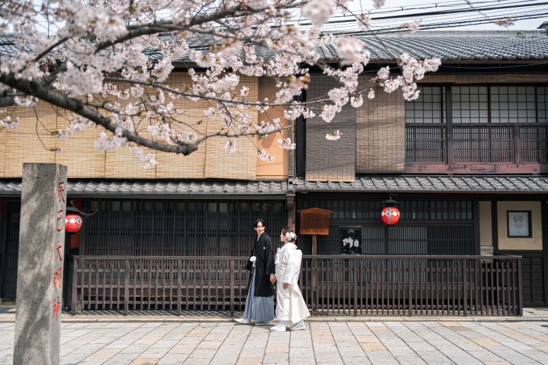
[(351, 182), (295, 179), (296, 192), (548, 192), (548, 177), (405, 176), (358, 177)]

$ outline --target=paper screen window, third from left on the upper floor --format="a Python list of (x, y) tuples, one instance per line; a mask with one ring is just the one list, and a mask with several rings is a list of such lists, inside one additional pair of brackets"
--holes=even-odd
[(536, 123), (534, 86), (491, 87), (491, 123)]

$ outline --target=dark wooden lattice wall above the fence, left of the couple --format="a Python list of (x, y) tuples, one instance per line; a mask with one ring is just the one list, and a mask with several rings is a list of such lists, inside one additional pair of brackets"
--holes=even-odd
[[(137, 205), (138, 204), (138, 205)], [(91, 212), (97, 205), (86, 203)], [(248, 256), (263, 217), (275, 247), (285, 201), (101, 201), (84, 221), (80, 255)]]

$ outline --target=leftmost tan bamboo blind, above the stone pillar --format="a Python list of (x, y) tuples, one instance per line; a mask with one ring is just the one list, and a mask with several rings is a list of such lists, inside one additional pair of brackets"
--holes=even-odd
[(55, 152), (49, 149), (55, 149), (55, 136), (51, 134), (57, 126), (55, 110), (39, 102), (32, 108), (8, 108), (8, 113), (11, 112), (12, 118), (18, 116), (21, 121), (17, 129), (2, 131), (5, 134), (4, 177), (23, 176), (25, 162), (54, 163)]

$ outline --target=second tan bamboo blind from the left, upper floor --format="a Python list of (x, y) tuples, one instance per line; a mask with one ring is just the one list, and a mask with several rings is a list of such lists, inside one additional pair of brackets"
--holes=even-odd
[[(66, 130), (69, 123), (76, 118), (67, 110), (58, 110), (57, 129)], [(89, 178), (105, 176), (105, 152), (95, 149), (95, 141), (103, 129), (87, 128), (79, 131), (66, 140), (58, 140), (57, 147), (62, 153), (55, 156), (55, 162), (68, 167), (69, 178)]]

